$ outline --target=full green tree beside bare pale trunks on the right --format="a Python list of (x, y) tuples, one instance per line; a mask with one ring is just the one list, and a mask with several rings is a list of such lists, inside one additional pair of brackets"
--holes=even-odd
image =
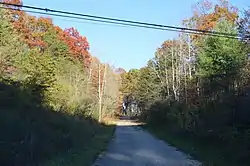
[[(236, 33), (235, 27), (228, 21), (222, 21), (216, 28), (220, 32)], [(247, 55), (243, 45), (235, 39), (209, 37), (206, 39), (203, 51), (199, 54), (199, 74), (213, 80), (226, 82), (224, 88), (229, 88), (246, 62)], [(224, 90), (226, 90), (224, 89)]]

